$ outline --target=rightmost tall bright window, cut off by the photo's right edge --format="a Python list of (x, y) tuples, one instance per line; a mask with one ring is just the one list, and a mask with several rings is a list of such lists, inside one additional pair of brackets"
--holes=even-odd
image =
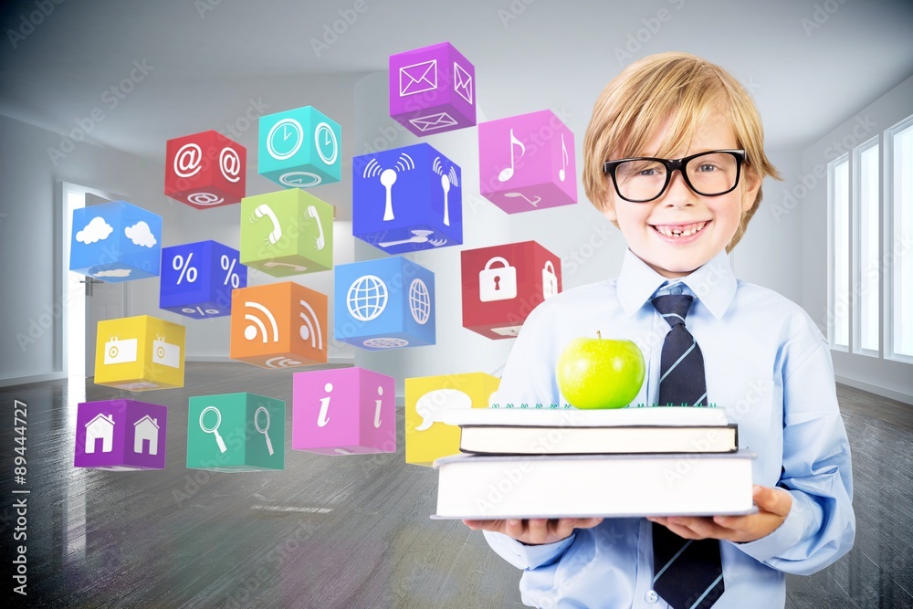
[[(889, 191), (891, 205), (890, 247), (886, 263), (890, 278), (890, 341), (887, 356), (913, 362), (913, 116), (888, 131), (893, 163)], [(887, 266), (887, 264), (886, 264)]]

